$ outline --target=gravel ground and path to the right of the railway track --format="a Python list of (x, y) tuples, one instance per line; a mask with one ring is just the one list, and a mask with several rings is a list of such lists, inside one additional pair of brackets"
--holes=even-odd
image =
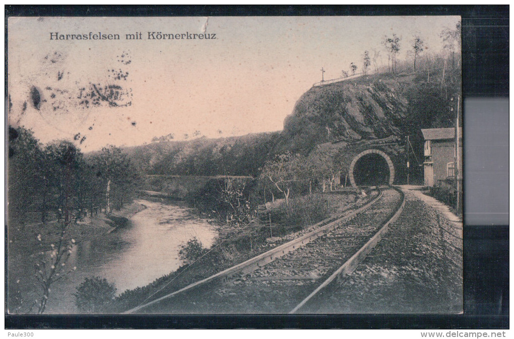
[(461, 313), (462, 222), (402, 187), (403, 213), (350, 275), (300, 313)]

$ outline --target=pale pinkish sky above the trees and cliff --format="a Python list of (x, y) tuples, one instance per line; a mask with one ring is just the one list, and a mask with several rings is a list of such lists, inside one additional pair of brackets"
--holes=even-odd
[[(314, 83), (381, 53), (396, 33), (400, 59), (414, 35), (442, 48), (457, 16), (10, 17), (8, 121), (43, 143), (76, 139), (84, 150), (185, 134), (227, 137), (283, 128)], [(119, 34), (120, 40), (50, 40), (50, 33)], [(125, 34), (141, 32), (141, 40)], [(148, 32), (207, 33), (216, 39), (151, 40)], [(157, 34), (157, 33), (156, 33)], [(155, 36), (155, 34), (154, 34)], [(120, 76), (120, 77), (119, 77)], [(94, 85), (94, 86), (93, 86)], [(111, 86), (111, 87), (109, 87)], [(108, 97), (105, 88), (118, 91)], [(34, 91), (37, 95), (34, 96)], [(95, 92), (106, 100), (90, 97)], [(89, 93), (89, 94), (88, 94)], [(34, 99), (35, 98), (35, 99)], [(87, 100), (87, 103), (86, 101)]]

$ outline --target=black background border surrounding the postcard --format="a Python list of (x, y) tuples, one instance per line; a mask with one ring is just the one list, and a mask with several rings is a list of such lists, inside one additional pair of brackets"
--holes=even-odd
[[(293, 16), (461, 15), (463, 97), (508, 97), (509, 6), (71, 6), (5, 5), (10, 16)], [(469, 194), (470, 190), (464, 187)], [(6, 227), (7, 230), (7, 227)], [(366, 315), (106, 315), (5, 314), (6, 329), (507, 329), (509, 328), (509, 228), (464, 224), (464, 314)], [(7, 248), (7, 247), (6, 247)], [(494, 258), (494, 260), (492, 260)], [(7, 259), (6, 259), (7, 260)], [(497, 305), (495, 300), (500, 300)], [(470, 311), (469, 303), (473, 304)], [(468, 308), (468, 309), (466, 309)]]

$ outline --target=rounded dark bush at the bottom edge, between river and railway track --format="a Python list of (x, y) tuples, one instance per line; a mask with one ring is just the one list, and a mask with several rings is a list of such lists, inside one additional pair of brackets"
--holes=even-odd
[(114, 284), (100, 277), (85, 278), (76, 288), (75, 305), (83, 313), (103, 313), (116, 295)]

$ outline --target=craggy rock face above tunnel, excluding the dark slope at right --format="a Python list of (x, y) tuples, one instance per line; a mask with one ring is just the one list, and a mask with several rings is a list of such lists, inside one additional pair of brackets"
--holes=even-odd
[(361, 77), (312, 87), (284, 122), (279, 148), (308, 153), (325, 142), (401, 136), (409, 103), (403, 92), (410, 77)]

